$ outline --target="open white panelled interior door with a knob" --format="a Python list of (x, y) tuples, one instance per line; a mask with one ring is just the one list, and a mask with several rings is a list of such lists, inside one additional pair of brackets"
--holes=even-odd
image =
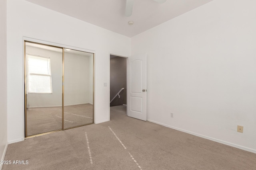
[(147, 55), (128, 57), (128, 116), (147, 120)]

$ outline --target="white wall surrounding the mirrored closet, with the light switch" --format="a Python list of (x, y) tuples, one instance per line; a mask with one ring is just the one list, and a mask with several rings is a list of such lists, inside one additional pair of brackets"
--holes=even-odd
[(8, 0), (7, 16), (8, 141), (24, 138), (24, 36), (95, 51), (95, 123), (108, 121), (109, 54), (129, 56), (130, 38), (24, 0)]

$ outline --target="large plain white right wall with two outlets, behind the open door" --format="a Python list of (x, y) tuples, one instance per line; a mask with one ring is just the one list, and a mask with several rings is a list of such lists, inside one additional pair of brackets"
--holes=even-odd
[(150, 121), (256, 152), (255, 6), (214, 0), (132, 37), (132, 55), (148, 55)]

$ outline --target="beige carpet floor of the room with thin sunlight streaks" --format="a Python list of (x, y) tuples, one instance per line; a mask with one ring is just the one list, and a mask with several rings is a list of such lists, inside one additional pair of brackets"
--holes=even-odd
[(126, 116), (8, 146), (3, 170), (256, 170), (256, 154)]

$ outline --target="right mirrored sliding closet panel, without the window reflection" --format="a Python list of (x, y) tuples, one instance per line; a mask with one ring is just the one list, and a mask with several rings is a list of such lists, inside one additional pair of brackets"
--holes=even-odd
[(64, 129), (93, 123), (94, 54), (64, 50)]

